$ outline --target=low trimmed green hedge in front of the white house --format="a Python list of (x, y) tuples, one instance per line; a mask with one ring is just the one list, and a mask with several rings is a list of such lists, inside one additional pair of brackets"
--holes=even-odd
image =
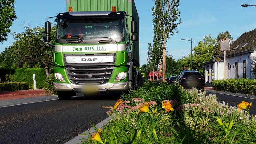
[(212, 87), (219, 91), (256, 95), (256, 79), (214, 80)]

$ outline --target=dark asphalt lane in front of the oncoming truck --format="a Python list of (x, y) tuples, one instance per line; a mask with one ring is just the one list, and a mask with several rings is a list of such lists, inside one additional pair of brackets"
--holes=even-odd
[(108, 117), (120, 95), (46, 101), (0, 108), (1, 144), (63, 144)]

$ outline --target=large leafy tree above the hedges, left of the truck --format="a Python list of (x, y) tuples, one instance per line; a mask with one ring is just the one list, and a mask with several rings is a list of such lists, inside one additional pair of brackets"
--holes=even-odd
[[(54, 43), (56, 26), (52, 27), (51, 37)], [(22, 67), (27, 63), (33, 67), (37, 62), (43, 63), (46, 75), (49, 76), (51, 71), (50, 67), (53, 63), (54, 46), (49, 46), (43, 41), (44, 27), (35, 27), (33, 29), (25, 27), (25, 32), (14, 33), (14, 40), (12, 46), (5, 49), (0, 55), (0, 60), (6, 62), (7, 67), (11, 67), (13, 63)], [(10, 59), (12, 60), (11, 62)]]

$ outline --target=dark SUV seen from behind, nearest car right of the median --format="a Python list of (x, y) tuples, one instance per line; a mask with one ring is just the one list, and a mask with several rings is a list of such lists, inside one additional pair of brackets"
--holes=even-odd
[(179, 84), (186, 88), (204, 90), (204, 78), (198, 71), (182, 71), (179, 75)]

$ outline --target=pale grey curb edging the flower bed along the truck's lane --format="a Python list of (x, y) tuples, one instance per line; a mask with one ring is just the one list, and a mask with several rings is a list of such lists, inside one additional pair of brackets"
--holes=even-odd
[[(98, 124), (95, 125), (96, 128), (101, 128), (103, 129), (104, 126), (109, 122), (109, 120), (113, 119), (114, 116), (109, 116), (108, 118), (104, 119), (103, 121), (99, 122)], [(81, 134), (88, 134), (88, 133), (94, 133), (95, 130), (94, 130), (94, 127), (91, 127), (90, 129), (84, 131), (83, 133)], [(75, 138), (69, 140), (68, 142), (66, 142), (65, 144), (77, 144), (77, 143), (81, 143), (81, 140), (80, 139), (87, 139), (88, 136), (86, 135), (78, 135), (76, 136)]]

